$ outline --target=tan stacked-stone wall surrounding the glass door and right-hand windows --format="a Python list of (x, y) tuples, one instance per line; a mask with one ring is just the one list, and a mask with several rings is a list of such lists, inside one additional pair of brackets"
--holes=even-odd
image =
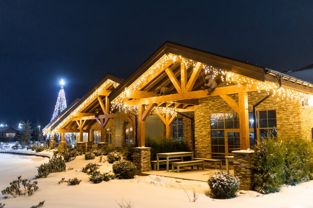
[[(249, 92), (249, 111), (252, 106), (267, 95), (267, 92)], [(238, 94), (229, 95), (238, 103)], [(288, 138), (290, 136), (310, 139), (313, 127), (313, 107), (301, 108), (295, 100), (282, 100), (278, 96), (269, 97), (257, 107), (257, 111), (276, 110), (277, 136)], [(211, 158), (210, 114), (235, 112), (221, 97), (208, 97), (199, 99), (195, 106), (195, 148), (196, 157)]]

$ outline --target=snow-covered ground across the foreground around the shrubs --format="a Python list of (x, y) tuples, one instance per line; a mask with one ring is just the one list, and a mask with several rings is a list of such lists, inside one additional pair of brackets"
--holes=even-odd
[[(105, 158), (105, 156), (103, 157)], [(20, 156), (13, 154), (0, 154), (0, 190), (9, 186), (9, 182), (22, 175), (22, 179), (33, 179), (40, 164), (47, 162), (48, 158), (38, 156)], [(298, 186), (283, 187), (279, 193), (262, 195), (255, 191), (239, 194), (233, 199), (217, 200), (209, 197), (209, 188), (206, 182), (188, 181), (162, 176), (136, 176), (130, 180), (111, 180), (93, 184), (89, 176), (80, 172), (89, 162), (101, 164), (100, 171), (112, 170), (108, 162), (99, 163), (99, 157), (86, 161), (84, 156), (78, 156), (74, 161), (66, 163), (66, 171), (50, 173), (48, 178), (36, 179), (39, 189), (32, 196), (10, 196), (0, 202), (5, 208), (29, 208), (44, 201), (44, 207), (119, 207), (122, 200), (131, 201), (134, 208), (139, 207), (313, 207), (313, 181)], [(68, 170), (69, 167), (74, 168)], [(77, 177), (82, 182), (77, 186), (58, 184), (65, 177)], [(192, 195), (192, 187), (199, 192), (196, 202), (189, 202), (187, 194)], [(191, 196), (190, 196), (191, 197)], [(191, 197), (192, 199), (192, 197)]]

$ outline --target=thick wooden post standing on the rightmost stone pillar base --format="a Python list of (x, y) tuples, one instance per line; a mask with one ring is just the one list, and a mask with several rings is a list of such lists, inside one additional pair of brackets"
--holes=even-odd
[(238, 98), (239, 98), (240, 149), (247, 150), (250, 147), (248, 92), (239, 92)]

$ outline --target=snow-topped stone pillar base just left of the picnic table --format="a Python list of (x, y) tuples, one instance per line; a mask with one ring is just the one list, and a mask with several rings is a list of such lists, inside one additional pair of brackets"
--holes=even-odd
[(137, 175), (140, 175), (142, 172), (151, 171), (150, 156), (150, 147), (133, 148), (133, 161), (137, 168)]

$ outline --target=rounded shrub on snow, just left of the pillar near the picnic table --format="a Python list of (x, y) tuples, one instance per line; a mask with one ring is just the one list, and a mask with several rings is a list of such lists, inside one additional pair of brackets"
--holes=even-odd
[(131, 179), (136, 175), (136, 166), (127, 160), (114, 162), (112, 169), (119, 179)]

